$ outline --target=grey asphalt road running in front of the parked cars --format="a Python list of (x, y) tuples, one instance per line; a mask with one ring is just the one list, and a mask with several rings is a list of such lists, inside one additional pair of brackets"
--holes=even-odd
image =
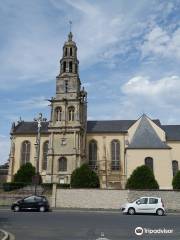
[[(143, 233), (136, 227), (168, 229), (173, 233)], [(127, 216), (120, 212), (87, 212), (58, 210), (49, 213), (19, 212), (0, 209), (0, 228), (15, 235), (17, 240), (95, 240), (101, 235), (112, 240), (180, 239), (180, 214), (158, 217)], [(102, 238), (103, 239), (103, 238)]]

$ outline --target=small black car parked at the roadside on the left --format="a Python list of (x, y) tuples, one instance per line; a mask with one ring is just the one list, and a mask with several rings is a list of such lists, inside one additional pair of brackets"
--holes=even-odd
[(11, 209), (15, 212), (21, 210), (37, 210), (40, 212), (49, 211), (49, 203), (44, 196), (29, 196), (13, 203)]

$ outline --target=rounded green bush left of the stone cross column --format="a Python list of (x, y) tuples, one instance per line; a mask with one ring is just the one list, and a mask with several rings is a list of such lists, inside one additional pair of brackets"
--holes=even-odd
[(35, 174), (35, 167), (31, 163), (26, 163), (14, 175), (14, 182), (31, 183)]

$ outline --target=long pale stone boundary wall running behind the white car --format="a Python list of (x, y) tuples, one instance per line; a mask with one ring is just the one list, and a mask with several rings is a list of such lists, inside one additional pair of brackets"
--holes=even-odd
[(119, 209), (127, 201), (142, 196), (161, 197), (165, 207), (180, 210), (180, 191), (129, 191), (105, 189), (53, 189), (52, 207)]

